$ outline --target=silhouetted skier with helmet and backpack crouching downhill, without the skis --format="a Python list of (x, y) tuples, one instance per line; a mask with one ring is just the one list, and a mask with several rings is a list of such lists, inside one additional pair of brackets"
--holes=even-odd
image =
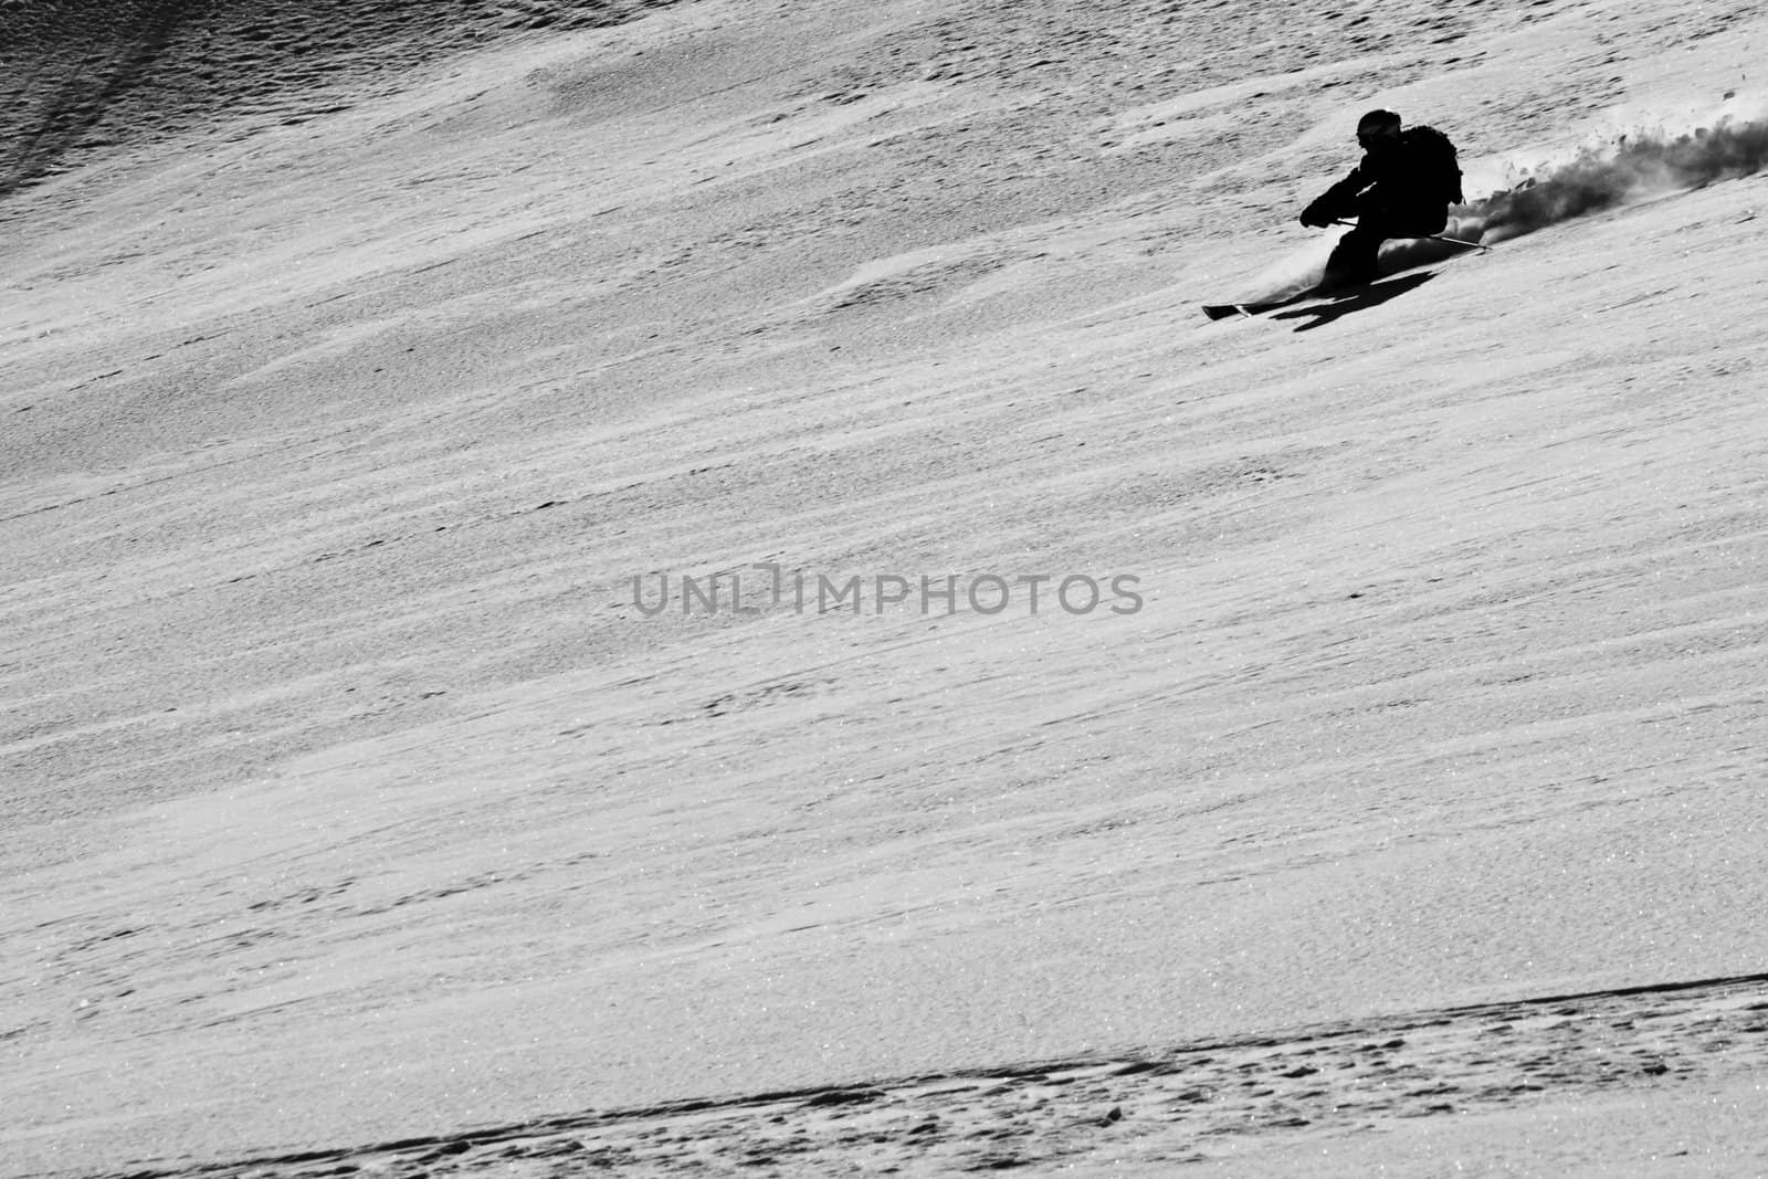
[(1368, 111), (1356, 124), (1356, 141), (1363, 163), (1301, 210), (1308, 228), (1356, 217), (1326, 260), (1328, 288), (1374, 281), (1381, 242), (1441, 233), (1448, 207), (1462, 202), (1455, 145), (1436, 127), (1400, 131), (1393, 111)]

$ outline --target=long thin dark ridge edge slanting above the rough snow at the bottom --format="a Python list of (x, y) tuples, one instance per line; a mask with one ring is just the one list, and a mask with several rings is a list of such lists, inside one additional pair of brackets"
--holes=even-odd
[[(1162, 1061), (1169, 1061), (1172, 1057), (1195, 1055), (1200, 1052), (1222, 1052), (1227, 1048), (1276, 1048), (1284, 1045), (1314, 1043), (1319, 1039), (1342, 1039), (1349, 1036), (1363, 1036), (1376, 1031), (1407, 1031), (1414, 1027), (1439, 1027), (1444, 1023), (1452, 1023), (1455, 1020), (1466, 1020), (1471, 1016), (1492, 1015), (1501, 1011), (1517, 1011), (1519, 1008), (1545, 1008), (1565, 1002), (1591, 1002), (1600, 999), (1625, 999), (1634, 995), (1674, 995), (1674, 993), (1720, 990), (1727, 986), (1743, 986), (1743, 985), (1768, 986), (1768, 972), (1727, 974), (1717, 977), (1690, 979), (1681, 983), (1644, 983), (1639, 986), (1611, 986), (1605, 990), (1568, 992), (1563, 995), (1535, 995), (1529, 999), (1506, 999), (1497, 1002), (1466, 1004), (1459, 1008), (1436, 1008), (1436, 1009), (1398, 1013), (1398, 1015), (1377, 1015), (1360, 1022), (1344, 1020), (1338, 1023), (1303, 1023), (1289, 1032), (1276, 1032), (1276, 1034), (1248, 1032), (1245, 1036), (1231, 1036), (1225, 1039), (1200, 1039), (1185, 1045), (1169, 1045), (1163, 1048), (1146, 1050), (1142, 1053), (1124, 1052), (1114, 1055), (1031, 1061), (1020, 1064), (1001, 1064), (1001, 1066), (976, 1068), (976, 1069), (956, 1069), (949, 1073), (911, 1073), (905, 1076), (891, 1076), (872, 1082), (826, 1084), (826, 1085), (810, 1085), (803, 1089), (769, 1089), (762, 1092), (750, 1092), (728, 1098), (682, 1098), (679, 1101), (661, 1101), (656, 1105), (635, 1105), (635, 1107), (621, 1107), (599, 1112), (585, 1110), (582, 1114), (560, 1114), (555, 1117), (539, 1117), (529, 1122), (506, 1122), (502, 1126), (458, 1130), (453, 1133), (424, 1135), (417, 1138), (394, 1138), (389, 1142), (375, 1142), (354, 1147), (299, 1151), (292, 1154), (260, 1154), (260, 1156), (249, 1156), (219, 1163), (193, 1163), (189, 1167), (179, 1167), (171, 1170), (149, 1168), (149, 1170), (127, 1170), (127, 1172), (110, 1172), (110, 1174), (97, 1172), (97, 1175), (101, 1179), (175, 1179), (177, 1175), (209, 1175), (209, 1174), (242, 1170), (253, 1167), (279, 1167), (295, 1163), (341, 1163), (362, 1154), (387, 1154), (394, 1151), (415, 1151), (424, 1147), (440, 1149), (454, 1144), (483, 1145), (493, 1142), (509, 1142), (513, 1138), (537, 1137), (546, 1133), (598, 1130), (605, 1126), (619, 1126), (621, 1122), (675, 1117), (681, 1114), (739, 1112), (751, 1107), (776, 1105), (780, 1101), (804, 1101), (806, 1105), (847, 1105), (847, 1103), (857, 1105), (863, 1101), (875, 1101), (879, 1098), (886, 1098), (893, 1089), (903, 1089), (909, 1085), (923, 1085), (932, 1082), (1031, 1078), (1052, 1071), (1103, 1068), (1109, 1064), (1128, 1066), (1114, 1075), (1133, 1075), (1147, 1071), (1149, 1068), (1158, 1068)], [(39, 1172), (39, 1174), (53, 1175), (58, 1172)]]

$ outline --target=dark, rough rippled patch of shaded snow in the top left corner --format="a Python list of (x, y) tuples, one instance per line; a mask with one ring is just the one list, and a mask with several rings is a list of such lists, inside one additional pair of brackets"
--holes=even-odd
[[(398, 74), (414, 64), (492, 42), (612, 28), (682, 2), (518, 0), (513, 9), (507, 0), (380, 0), (380, 19), (364, 30), (348, 21), (373, 5), (350, 0), (83, 0), (83, 9), (32, 11), (30, 0), (0, 0), (0, 83), (12, 80), (0, 85), (9, 103), (0, 110), (0, 224), (23, 216), (12, 196), (106, 148), (244, 118), (242, 133), (228, 140), (239, 141), (354, 110), (362, 87), (396, 90)], [(83, 19), (69, 21), (67, 12)], [(103, 35), (92, 44), (99, 23)]]

